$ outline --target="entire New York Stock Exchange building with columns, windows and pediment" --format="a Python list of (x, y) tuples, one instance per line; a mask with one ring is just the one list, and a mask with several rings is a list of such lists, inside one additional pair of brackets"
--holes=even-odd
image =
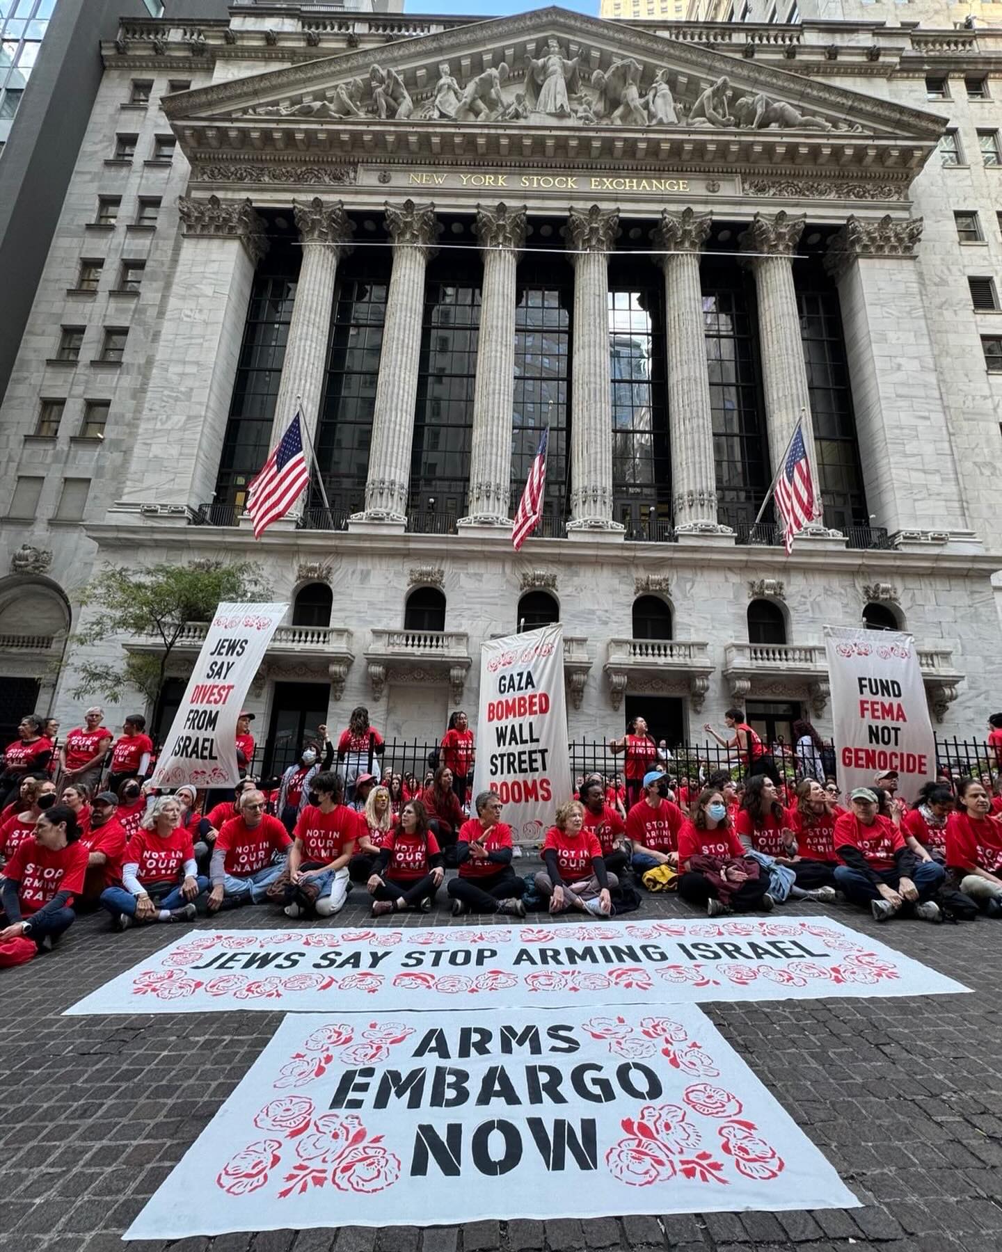
[[(983, 735), (1002, 26), (760, 8), (123, 21), (1, 411), (0, 674), (75, 725), (81, 585), (222, 557), (292, 606), (249, 697), (266, 770), (359, 704), (437, 739), (481, 642), (556, 620), (572, 737), (701, 741), (735, 701), (830, 732), (823, 626), (862, 622), (913, 632), (941, 732)], [(256, 541), (297, 406), (327, 505), (314, 476)], [(802, 412), (824, 515), (787, 557), (753, 523)], [(89, 655), (121, 646), (153, 644)]]

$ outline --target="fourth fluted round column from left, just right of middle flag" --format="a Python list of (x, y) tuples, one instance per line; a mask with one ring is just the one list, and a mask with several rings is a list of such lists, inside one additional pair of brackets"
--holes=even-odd
[(571, 363), (571, 520), (569, 533), (622, 532), (612, 521), (612, 381), (609, 364), (609, 263), (619, 210), (571, 209), (574, 264)]

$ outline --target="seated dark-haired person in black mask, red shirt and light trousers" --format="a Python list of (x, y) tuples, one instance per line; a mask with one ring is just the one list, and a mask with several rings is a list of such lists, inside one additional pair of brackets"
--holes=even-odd
[(309, 799), (313, 796), (316, 803), (308, 804), (296, 823), (288, 875), (277, 879), (268, 893), (284, 905), (287, 918), (341, 913), (348, 896), (348, 861), (366, 830), (362, 814), (344, 804), (341, 774), (314, 774)]

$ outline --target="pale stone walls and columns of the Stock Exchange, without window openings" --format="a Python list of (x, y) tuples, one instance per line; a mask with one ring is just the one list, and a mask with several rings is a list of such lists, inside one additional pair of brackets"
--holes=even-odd
[[(848, 28), (797, 28), (795, 41), (769, 41), (750, 38), (759, 28), (728, 29), (725, 39), (694, 24), (666, 44), (640, 21), (554, 10), (476, 29), (473, 19), (397, 18), (392, 31), (388, 19), (324, 24), (304, 11), (263, 40), (271, 21), (242, 13), (225, 30), (207, 26), (195, 45), (189, 28), (138, 21), (104, 49), (104, 83), (0, 408), (0, 508), (18, 480), (41, 480), (30, 517), (0, 518), (11, 571), (0, 582), (0, 675), (24, 674), (16, 641), (36, 636), (40, 603), (63, 630), (46, 631), (48, 652), (61, 649), (75, 592), (101, 562), (224, 556), (257, 560), (277, 597), (311, 581), (333, 588), (329, 630), (269, 652), (249, 700), (258, 727), (277, 682), (323, 682), (328, 724), (367, 704), (387, 737), (431, 737), (448, 707), (476, 707), (480, 642), (515, 630), (520, 596), (545, 590), (569, 639), (575, 736), (619, 732), (624, 696), (679, 701), (691, 737), (735, 699), (799, 705), (825, 730), (822, 626), (858, 625), (867, 602), (888, 600), (916, 636), (943, 729), (979, 731), (1002, 687), (992, 588), (1002, 566), (1002, 374), (986, 371), (979, 339), (1002, 328), (997, 314), (972, 309), (966, 278), (1002, 270), (1002, 170), (982, 164), (976, 134), (1002, 125), (993, 99), (1002, 31), (978, 31), (974, 50), (946, 34), (936, 48), (926, 29), (896, 26), (884, 38), (868, 28), (863, 46)], [(525, 56), (542, 65), (550, 39), (561, 81), (582, 84), (570, 90), (569, 114), (557, 86), (547, 94), (550, 79), (520, 103), (527, 88), (516, 66)], [(869, 46), (881, 55), (865, 55)], [(974, 55), (989, 75), (984, 101), (963, 98)], [(926, 75), (941, 63), (954, 95), (933, 104)], [(453, 75), (456, 93), (443, 81)], [(154, 80), (144, 109), (123, 109), (132, 79)], [(757, 99), (780, 119), (768, 129), (754, 121)], [(740, 100), (753, 104), (721, 123), (719, 110)], [(961, 168), (936, 153), (947, 111), (968, 158)], [(135, 155), (109, 159), (121, 134), (138, 135)], [(173, 159), (149, 159), (168, 135)], [(121, 198), (110, 229), (89, 225), (99, 195)], [(150, 199), (160, 202), (155, 224), (140, 220)], [(386, 220), (392, 275), (364, 507), (347, 530), (288, 521), (256, 543), (240, 526), (193, 523), (214, 496), (250, 284), (268, 244), (262, 215), (276, 212), (294, 222), (303, 247), (276, 427), (297, 397), (309, 429), (316, 421), (338, 269), (358, 245), (352, 214)], [(977, 212), (982, 238), (961, 242), (954, 212)], [(456, 215), (475, 223), (470, 255), (482, 284), (468, 498), (453, 533), (423, 535), (407, 521), (418, 310), (446, 243), (442, 223)], [(527, 227), (554, 215), (574, 274), (567, 528), (516, 555), (505, 525), (516, 503), (514, 297)], [(607, 260), (628, 220), (666, 253), (675, 542), (636, 542), (614, 516)], [(738, 542), (718, 520), (700, 265), (720, 220), (735, 224), (730, 250), (754, 283), (773, 462), (809, 403), (794, 257), (812, 232), (833, 235), (828, 267), (867, 506), (888, 547), (852, 548), (817, 527), (787, 558)], [(95, 292), (78, 289), (81, 259), (104, 262)], [(138, 294), (123, 289), (130, 260), (145, 262)], [(58, 361), (60, 327), (84, 328), (79, 359)], [(109, 327), (129, 331), (120, 363), (99, 362)], [(55, 436), (35, 433), (44, 399), (65, 401)], [(81, 438), (85, 402), (101, 399), (110, 401), (104, 437)], [(58, 516), (64, 480), (81, 478), (90, 483), (83, 518)], [(26, 551), (51, 560), (29, 561)], [(431, 642), (401, 631), (415, 587), (446, 597), (445, 631)], [(749, 650), (750, 587), (782, 610), (779, 664)], [(887, 587), (893, 595), (874, 593)], [(670, 649), (633, 646), (639, 595), (670, 605)], [(71, 686), (70, 674), (55, 695), (64, 721), (81, 704)], [(109, 710), (109, 720), (121, 712)]]

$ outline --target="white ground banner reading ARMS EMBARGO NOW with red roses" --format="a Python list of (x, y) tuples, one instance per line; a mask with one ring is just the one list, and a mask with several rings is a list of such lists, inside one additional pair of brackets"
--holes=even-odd
[(691, 1005), (293, 1014), (125, 1238), (855, 1207)]

